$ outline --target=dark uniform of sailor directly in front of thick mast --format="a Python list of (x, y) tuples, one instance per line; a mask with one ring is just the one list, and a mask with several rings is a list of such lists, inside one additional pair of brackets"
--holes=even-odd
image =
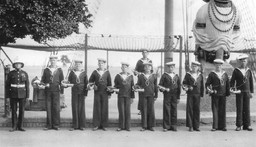
[(159, 81), (159, 85), (170, 89), (169, 92), (163, 92), (164, 129), (177, 129), (177, 99), (180, 99), (180, 78), (178, 74), (173, 74), (172, 78), (168, 73), (164, 73)]

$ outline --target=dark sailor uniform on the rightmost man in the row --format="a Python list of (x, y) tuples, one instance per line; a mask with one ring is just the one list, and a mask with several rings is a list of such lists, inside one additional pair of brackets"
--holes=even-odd
[(236, 94), (236, 126), (251, 126), (250, 118), (250, 92), (253, 93), (252, 71), (245, 67), (245, 75), (243, 75), (240, 67), (233, 71), (230, 87), (241, 90), (240, 94)]

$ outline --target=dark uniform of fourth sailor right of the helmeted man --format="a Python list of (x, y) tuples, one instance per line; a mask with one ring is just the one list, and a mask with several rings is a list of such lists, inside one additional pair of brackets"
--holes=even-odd
[(131, 128), (131, 98), (134, 99), (134, 85), (133, 76), (128, 73), (124, 79), (119, 73), (116, 75), (114, 83), (115, 87), (119, 89), (117, 107), (119, 112), (119, 128)]

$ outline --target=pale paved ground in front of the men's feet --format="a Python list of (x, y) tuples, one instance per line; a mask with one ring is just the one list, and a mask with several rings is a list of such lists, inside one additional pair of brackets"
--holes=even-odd
[[(146, 130), (140, 132), (140, 128), (132, 128), (131, 132), (117, 132), (116, 128), (108, 128), (108, 131), (69, 131), (61, 128), (59, 131), (44, 131), (42, 128), (27, 128), (26, 132), (9, 132), (10, 128), (0, 128), (0, 146), (22, 147), (137, 147), (137, 146), (179, 146), (179, 147), (244, 147), (255, 146), (256, 130), (235, 131), (235, 125), (227, 125), (227, 132), (212, 132), (211, 126), (202, 126), (201, 132), (189, 132), (186, 127), (179, 127), (177, 132), (163, 132), (162, 127), (156, 127), (156, 131)], [(256, 123), (252, 123), (256, 128)]]

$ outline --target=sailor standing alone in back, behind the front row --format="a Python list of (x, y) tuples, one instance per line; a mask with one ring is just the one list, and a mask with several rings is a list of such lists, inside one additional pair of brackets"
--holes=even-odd
[[(146, 49), (146, 48), (142, 48), (141, 49), (141, 54), (142, 54), (142, 58), (140, 58), (139, 60), (138, 60), (138, 62), (137, 62), (137, 64), (136, 64), (136, 66), (135, 66), (135, 70), (133, 70), (133, 73), (134, 73), (134, 75), (136, 76), (138, 73), (138, 77), (140, 76), (140, 74), (144, 71), (144, 65), (143, 65), (143, 63), (152, 63), (152, 60), (150, 60), (149, 58), (148, 58), (148, 54), (149, 54), (149, 50), (148, 49)], [(153, 72), (153, 68), (151, 69), (151, 72)], [(138, 110), (140, 110), (139, 111), (139, 113), (138, 113), (138, 115), (140, 115), (141, 114), (141, 100), (140, 100), (140, 92), (138, 93), (139, 94), (139, 102), (138, 102)]]

